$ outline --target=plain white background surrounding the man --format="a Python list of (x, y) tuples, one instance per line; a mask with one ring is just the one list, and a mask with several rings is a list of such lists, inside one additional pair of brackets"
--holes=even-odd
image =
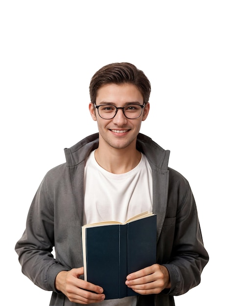
[[(16, 241), (63, 149), (96, 132), (89, 83), (131, 62), (152, 85), (141, 132), (171, 150), (193, 190), (210, 262), (177, 306), (230, 305), (233, 8), (229, 0), (0, 1), (1, 296), (46, 306), (22, 273)], [(3, 285), (3, 286), (2, 286)]]

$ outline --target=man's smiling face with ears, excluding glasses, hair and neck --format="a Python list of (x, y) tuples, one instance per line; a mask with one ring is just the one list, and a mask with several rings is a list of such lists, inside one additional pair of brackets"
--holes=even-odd
[[(107, 84), (97, 91), (96, 106), (108, 104), (124, 107), (127, 104), (143, 105), (143, 97), (139, 89), (133, 84)], [(137, 135), (140, 131), (141, 121), (144, 121), (149, 112), (149, 103), (142, 109), (139, 118), (128, 119), (122, 109), (118, 109), (112, 119), (102, 119), (97, 109), (90, 103), (89, 109), (93, 120), (97, 121), (99, 130), (99, 145), (111, 146), (116, 149), (136, 148)]]

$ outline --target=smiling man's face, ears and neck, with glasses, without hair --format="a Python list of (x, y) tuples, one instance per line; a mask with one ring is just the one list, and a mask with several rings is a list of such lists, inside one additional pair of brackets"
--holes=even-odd
[(146, 119), (149, 112), (149, 103), (144, 104), (140, 90), (127, 83), (103, 85), (89, 109), (99, 131), (96, 161), (115, 174), (132, 170), (141, 158), (136, 150), (136, 141), (141, 121)]

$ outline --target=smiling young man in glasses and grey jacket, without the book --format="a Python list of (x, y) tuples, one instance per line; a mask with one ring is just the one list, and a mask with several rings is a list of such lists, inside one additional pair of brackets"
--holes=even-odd
[[(33, 199), (16, 251), (23, 273), (53, 291), (50, 305), (171, 306), (200, 283), (209, 258), (189, 184), (168, 168), (169, 152), (139, 133), (150, 89), (132, 64), (98, 70), (89, 110), (99, 132), (65, 149), (66, 163), (47, 173)], [(139, 296), (104, 301), (104, 288), (83, 280), (81, 226), (144, 211), (157, 214), (157, 262), (127, 276)]]

